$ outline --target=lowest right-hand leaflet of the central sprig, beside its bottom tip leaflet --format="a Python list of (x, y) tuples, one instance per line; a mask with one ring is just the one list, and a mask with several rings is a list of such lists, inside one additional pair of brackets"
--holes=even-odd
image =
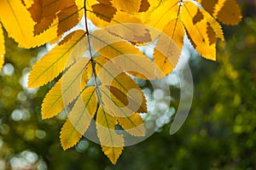
[(124, 105), (121, 101), (123, 100), (121, 97), (126, 98), (126, 96), (119, 95), (116, 97), (112, 94), (113, 91), (118, 90), (117, 88), (114, 89), (112, 87), (112, 90), (110, 90), (101, 86), (100, 89), (102, 92), (102, 105), (104, 106), (105, 111), (108, 111), (108, 113), (115, 116), (119, 121), (119, 125), (123, 127), (126, 132), (131, 133), (131, 135), (134, 136), (144, 136), (145, 129), (143, 120), (141, 116), (134, 112), (138, 110), (140, 104)]

